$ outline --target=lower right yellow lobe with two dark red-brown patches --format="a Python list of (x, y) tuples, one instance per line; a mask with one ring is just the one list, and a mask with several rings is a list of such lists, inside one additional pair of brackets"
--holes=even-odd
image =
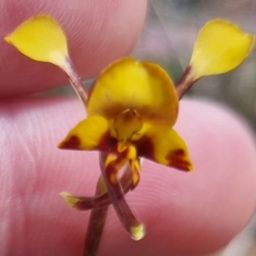
[(165, 166), (192, 170), (189, 152), (183, 139), (173, 129), (154, 125), (137, 142), (137, 154)]

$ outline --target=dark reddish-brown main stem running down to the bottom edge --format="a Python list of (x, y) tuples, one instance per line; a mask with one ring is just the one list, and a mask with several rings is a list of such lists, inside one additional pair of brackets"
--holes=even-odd
[[(101, 195), (105, 192), (105, 189), (102, 189), (100, 177), (96, 186), (96, 195)], [(84, 243), (84, 256), (96, 256), (100, 241), (102, 239), (102, 232), (104, 230), (107, 213), (108, 205), (101, 208), (94, 207), (90, 212), (88, 231)]]

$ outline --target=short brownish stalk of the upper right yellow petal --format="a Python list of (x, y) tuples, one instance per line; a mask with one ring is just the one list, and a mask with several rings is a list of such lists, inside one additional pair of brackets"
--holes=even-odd
[(198, 79), (195, 79), (193, 72), (191, 70), (191, 66), (187, 67), (179, 81), (176, 84), (177, 97), (178, 100), (181, 100), (183, 95), (189, 88), (195, 84)]

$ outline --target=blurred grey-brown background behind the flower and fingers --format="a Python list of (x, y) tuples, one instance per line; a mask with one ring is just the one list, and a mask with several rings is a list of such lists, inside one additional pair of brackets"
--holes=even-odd
[[(201, 26), (214, 18), (230, 20), (244, 31), (256, 33), (256, 0), (151, 0), (143, 33), (131, 55), (160, 63), (177, 81), (189, 63)], [(256, 134), (255, 66), (253, 49), (236, 70), (201, 79), (186, 96), (207, 98), (233, 108)], [(89, 87), (92, 81), (84, 81), (85, 86)], [(50, 93), (70, 94), (73, 89), (66, 86)], [(256, 256), (256, 218), (228, 247), (207, 256), (213, 255)]]

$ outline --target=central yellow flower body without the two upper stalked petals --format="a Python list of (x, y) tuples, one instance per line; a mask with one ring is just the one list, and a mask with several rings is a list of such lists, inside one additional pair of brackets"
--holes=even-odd
[(88, 118), (59, 148), (106, 152), (104, 165), (112, 183), (120, 167), (129, 163), (136, 186), (139, 157), (189, 171), (188, 149), (172, 130), (177, 102), (172, 80), (160, 66), (132, 58), (114, 61), (89, 92)]

